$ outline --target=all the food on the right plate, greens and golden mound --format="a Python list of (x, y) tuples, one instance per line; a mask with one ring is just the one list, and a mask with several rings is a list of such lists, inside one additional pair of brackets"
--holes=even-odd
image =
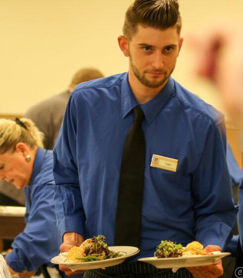
[(172, 241), (162, 240), (156, 247), (155, 257), (157, 258), (176, 258), (181, 256), (212, 255), (203, 249), (203, 245), (198, 241), (192, 241), (185, 247)]

